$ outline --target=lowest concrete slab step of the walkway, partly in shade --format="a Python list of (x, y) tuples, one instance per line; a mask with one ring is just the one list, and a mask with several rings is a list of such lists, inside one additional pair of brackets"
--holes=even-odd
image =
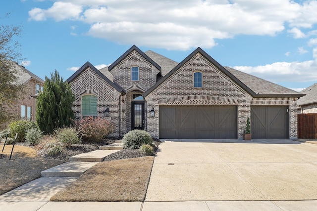
[(41, 172), (43, 177), (79, 177), (98, 162), (66, 162)]

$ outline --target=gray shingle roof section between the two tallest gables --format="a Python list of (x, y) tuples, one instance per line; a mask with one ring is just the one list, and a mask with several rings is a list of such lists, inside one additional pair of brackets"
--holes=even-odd
[(153, 61), (155, 61), (161, 67), (161, 75), (165, 76), (169, 71), (171, 71), (178, 62), (175, 62), (165, 56), (162, 56), (152, 50), (148, 50), (145, 52)]

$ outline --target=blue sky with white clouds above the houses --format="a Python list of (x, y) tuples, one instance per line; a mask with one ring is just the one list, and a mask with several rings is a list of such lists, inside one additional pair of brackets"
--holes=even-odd
[(0, 24), (22, 26), (22, 64), (43, 79), (105, 67), (133, 44), (177, 62), (199, 46), (301, 90), (317, 83), (316, 11), (317, 0), (2, 0)]

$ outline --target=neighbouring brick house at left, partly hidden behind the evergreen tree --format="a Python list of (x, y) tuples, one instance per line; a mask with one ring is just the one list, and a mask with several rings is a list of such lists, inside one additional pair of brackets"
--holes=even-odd
[(14, 63), (12, 68), (17, 70), (16, 83), (24, 85), (25, 93), (12, 106), (6, 106), (7, 111), (15, 114), (16, 119), (35, 120), (36, 99), (32, 96), (43, 90), (44, 81), (21, 65)]

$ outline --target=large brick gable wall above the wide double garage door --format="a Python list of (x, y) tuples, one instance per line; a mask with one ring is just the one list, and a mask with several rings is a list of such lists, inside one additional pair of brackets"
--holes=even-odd
[[(202, 87), (194, 87), (194, 73), (202, 73)], [(169, 101), (198, 100), (197, 96), (207, 97), (202, 100), (237, 104), (235, 99), (242, 99), (247, 91), (227, 76), (221, 69), (211, 63), (202, 53), (196, 52), (186, 62), (177, 66), (156, 84), (153, 90), (145, 93), (159, 96), (158, 103), (169, 104)]]

